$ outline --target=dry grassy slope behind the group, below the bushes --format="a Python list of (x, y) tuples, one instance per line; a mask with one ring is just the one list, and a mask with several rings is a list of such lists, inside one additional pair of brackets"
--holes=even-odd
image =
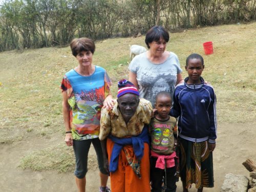
[[(167, 50), (178, 55), (183, 70), (190, 53), (204, 57), (202, 76), (215, 88), (219, 122), (255, 121), (255, 29), (256, 23), (250, 23), (170, 34)], [(117, 81), (127, 78), (129, 45), (146, 47), (144, 38), (96, 42), (93, 63), (108, 71), (113, 95)], [(204, 55), (205, 41), (213, 41), (214, 54)], [(69, 47), (0, 53), (0, 143), (64, 135), (59, 86), (63, 75), (77, 64)], [(186, 77), (185, 70), (182, 75)]]

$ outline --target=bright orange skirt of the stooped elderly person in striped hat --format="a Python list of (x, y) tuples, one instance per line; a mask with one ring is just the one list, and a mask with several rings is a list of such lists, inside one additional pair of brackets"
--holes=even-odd
[[(106, 141), (109, 162), (114, 146), (111, 139)], [(133, 151), (132, 145), (126, 145)], [(150, 192), (150, 147), (144, 143), (144, 155), (140, 163), (141, 179), (134, 173), (132, 167), (127, 162), (125, 153), (121, 150), (116, 172), (110, 173), (110, 184), (112, 192)]]

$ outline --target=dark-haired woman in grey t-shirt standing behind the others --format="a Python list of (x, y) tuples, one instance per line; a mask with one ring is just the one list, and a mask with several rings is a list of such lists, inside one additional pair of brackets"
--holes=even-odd
[(153, 106), (158, 92), (167, 91), (173, 96), (176, 84), (184, 81), (177, 55), (165, 51), (168, 41), (169, 34), (163, 27), (152, 27), (145, 38), (149, 50), (135, 56), (129, 66), (129, 81), (138, 87), (140, 98)]

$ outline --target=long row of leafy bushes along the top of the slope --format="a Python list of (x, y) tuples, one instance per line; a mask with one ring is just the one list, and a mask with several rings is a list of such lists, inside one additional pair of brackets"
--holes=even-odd
[(74, 37), (103, 39), (213, 26), (256, 18), (255, 0), (16, 0), (0, 8), (0, 51), (66, 46)]

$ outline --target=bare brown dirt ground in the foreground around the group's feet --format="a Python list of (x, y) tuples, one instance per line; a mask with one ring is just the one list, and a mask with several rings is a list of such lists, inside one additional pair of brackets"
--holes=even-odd
[[(217, 147), (214, 152), (215, 188), (204, 191), (220, 191), (227, 173), (248, 176), (242, 162), (247, 158), (256, 161), (255, 122), (221, 123), (218, 127)], [(24, 155), (56, 143), (56, 139), (32, 137), (0, 145), (0, 190), (1, 191), (77, 191), (73, 173), (59, 174), (55, 171), (32, 172), (18, 168)], [(61, 141), (60, 141), (61, 142)], [(90, 155), (95, 155), (94, 150)], [(98, 191), (98, 171), (89, 170), (87, 191)], [(181, 192), (181, 182), (177, 192)], [(189, 191), (194, 192), (195, 186)]]

